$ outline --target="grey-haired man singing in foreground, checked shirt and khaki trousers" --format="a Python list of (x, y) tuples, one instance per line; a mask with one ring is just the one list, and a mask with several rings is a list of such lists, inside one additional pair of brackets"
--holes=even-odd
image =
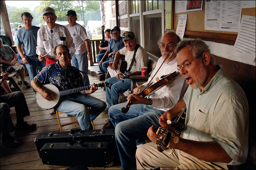
[(184, 98), (159, 118), (159, 124), (176, 135), (166, 122), (187, 107), (185, 128), (167, 151), (157, 151), (156, 130), (148, 129), (151, 143), (138, 148), (137, 169), (228, 169), (245, 162), (248, 152), (248, 102), (243, 89), (215, 65), (202, 40), (181, 41), (177, 68), (189, 87)]

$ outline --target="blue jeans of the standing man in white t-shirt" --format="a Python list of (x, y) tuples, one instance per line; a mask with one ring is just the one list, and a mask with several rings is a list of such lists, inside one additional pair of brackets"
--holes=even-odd
[(71, 59), (72, 66), (80, 69), (82, 72), (85, 72), (86, 75), (81, 73), (84, 78), (84, 85), (89, 86), (90, 81), (88, 77), (88, 58), (87, 58), (87, 51), (83, 54), (74, 54)]

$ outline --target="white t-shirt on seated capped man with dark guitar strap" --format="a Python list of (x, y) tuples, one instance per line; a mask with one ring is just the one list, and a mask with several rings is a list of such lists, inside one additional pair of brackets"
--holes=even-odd
[[(126, 70), (128, 70), (131, 65), (134, 51), (135, 51), (135, 49), (133, 51), (129, 51), (126, 49), (126, 47), (119, 50), (119, 53), (121, 55), (125, 55), (125, 61), (127, 62)], [(140, 72), (141, 67), (143, 67), (143, 62), (144, 62), (144, 66), (148, 65), (148, 56), (147, 56), (146, 50), (140, 46), (136, 52), (135, 60), (131, 67), (131, 71), (128, 72), (128, 74), (136, 72), (136, 71)]]

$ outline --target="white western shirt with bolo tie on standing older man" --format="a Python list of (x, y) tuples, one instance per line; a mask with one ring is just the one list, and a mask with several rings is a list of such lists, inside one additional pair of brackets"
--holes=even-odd
[[(48, 25), (44, 25), (37, 32), (37, 55), (45, 55), (50, 52), (46, 57), (53, 58), (53, 49), (59, 45), (63, 44), (68, 46), (70, 57), (75, 53), (75, 44), (73, 43), (73, 38), (71, 37), (69, 30), (59, 24), (55, 24), (54, 28), (51, 29)], [(65, 40), (64, 40), (65, 39)]]

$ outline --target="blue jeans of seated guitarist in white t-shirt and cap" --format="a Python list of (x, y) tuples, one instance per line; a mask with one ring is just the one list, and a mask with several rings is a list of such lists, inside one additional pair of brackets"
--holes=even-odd
[(118, 104), (119, 92), (131, 88), (131, 79), (127, 78), (122, 83), (116, 77), (106, 79), (105, 82), (109, 82), (109, 87), (106, 87), (106, 101), (108, 106)]

